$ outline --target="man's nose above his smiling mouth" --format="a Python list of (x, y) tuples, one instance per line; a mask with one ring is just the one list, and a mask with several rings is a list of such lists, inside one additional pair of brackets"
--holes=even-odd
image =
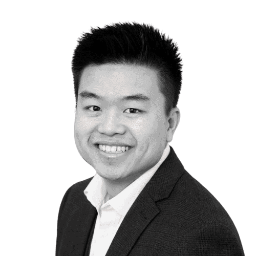
[(124, 134), (125, 127), (120, 120), (120, 115), (115, 110), (106, 111), (100, 116), (98, 132), (113, 136), (114, 134)]

